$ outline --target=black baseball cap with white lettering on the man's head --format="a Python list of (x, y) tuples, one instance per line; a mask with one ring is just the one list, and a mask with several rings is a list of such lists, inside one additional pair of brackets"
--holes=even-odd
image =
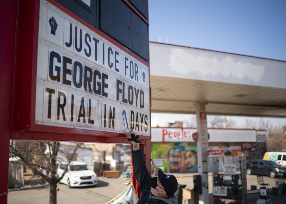
[(161, 169), (158, 170), (158, 178), (161, 185), (164, 187), (168, 197), (175, 194), (178, 188), (178, 181), (174, 175), (164, 174)]

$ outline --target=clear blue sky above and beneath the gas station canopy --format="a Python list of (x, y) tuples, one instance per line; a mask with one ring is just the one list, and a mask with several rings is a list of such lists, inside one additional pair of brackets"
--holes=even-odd
[[(286, 0), (149, 0), (150, 41), (286, 61)], [(161, 126), (192, 115), (151, 114)], [(243, 124), (246, 117), (232, 117)], [(181, 120), (180, 120), (181, 119)], [(259, 118), (253, 118), (259, 120)], [(286, 119), (266, 119), (284, 123)]]

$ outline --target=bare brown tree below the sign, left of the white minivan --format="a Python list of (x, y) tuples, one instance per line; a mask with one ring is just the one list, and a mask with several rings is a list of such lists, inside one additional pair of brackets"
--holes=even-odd
[[(77, 145), (72, 147), (72, 153), (69, 153), (60, 150), (60, 142), (11, 141), (10, 155), (19, 157), (35, 175), (48, 181), (50, 186), (49, 204), (56, 204), (57, 183), (68, 171), (69, 163), (80, 145), (81, 143), (77, 143)], [(66, 165), (63, 174), (58, 178), (56, 174), (59, 163), (57, 155), (59, 153), (68, 155), (68, 165)]]

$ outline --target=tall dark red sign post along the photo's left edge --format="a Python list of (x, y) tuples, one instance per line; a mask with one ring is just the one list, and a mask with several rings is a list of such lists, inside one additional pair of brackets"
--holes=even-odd
[(9, 139), (11, 124), (11, 101), (13, 69), (15, 65), (15, 33), (17, 18), (17, 1), (1, 1), (2, 22), (1, 39), (1, 74), (0, 87), (2, 100), (0, 101), (0, 203), (7, 203), (8, 167), (9, 167)]

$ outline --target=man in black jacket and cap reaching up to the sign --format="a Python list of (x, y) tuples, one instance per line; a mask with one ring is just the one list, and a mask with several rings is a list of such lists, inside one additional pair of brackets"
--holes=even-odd
[(132, 130), (126, 136), (128, 136), (128, 141), (131, 141), (133, 145), (133, 173), (142, 192), (137, 204), (175, 204), (177, 197), (174, 194), (178, 188), (176, 177), (164, 174), (161, 169), (157, 169), (158, 177), (152, 178), (147, 170), (143, 151), (139, 148), (139, 143), (141, 143), (138, 140), (139, 136), (135, 136), (135, 132)]

